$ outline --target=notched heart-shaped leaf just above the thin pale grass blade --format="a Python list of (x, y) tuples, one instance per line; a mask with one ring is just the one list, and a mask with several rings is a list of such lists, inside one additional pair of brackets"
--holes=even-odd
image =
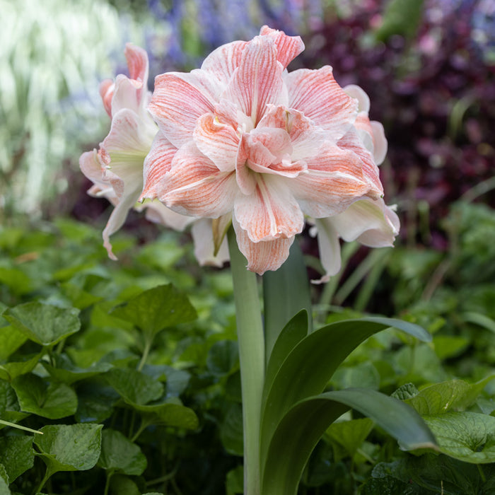
[(76, 412), (76, 392), (64, 383), (46, 383), (40, 376), (29, 373), (13, 380), (12, 388), (24, 412), (48, 419), (64, 418)]

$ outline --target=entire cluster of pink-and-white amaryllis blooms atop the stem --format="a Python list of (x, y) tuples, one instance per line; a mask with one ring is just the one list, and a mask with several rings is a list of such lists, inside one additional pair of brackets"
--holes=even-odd
[[(122, 223), (116, 211), (127, 213), (136, 200), (164, 205), (180, 219), (208, 219), (196, 243), (214, 253), (232, 223), (248, 269), (262, 274), (281, 266), (308, 220), (318, 233), (321, 281), (339, 271), (339, 238), (392, 245), (399, 221), (383, 202), (377, 167), (387, 148), (383, 127), (368, 119), (361, 88), (341, 88), (330, 66), (288, 72), (303, 48), (300, 37), (264, 26), (248, 42), (214, 50), (201, 69), (157, 76), (149, 113), (147, 59), (144, 70), (128, 56), (130, 78), (102, 86), (110, 134), (98, 153), (81, 157), (98, 191), (112, 199), (105, 184), (114, 192), (119, 221), (110, 217), (106, 234)], [(127, 108), (117, 91), (124, 81), (134, 88)], [(118, 150), (110, 148), (116, 141)]]

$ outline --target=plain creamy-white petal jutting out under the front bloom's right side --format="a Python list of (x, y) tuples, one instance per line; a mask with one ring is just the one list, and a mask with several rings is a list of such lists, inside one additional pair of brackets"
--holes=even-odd
[(361, 199), (332, 217), (332, 224), (342, 239), (359, 240), (371, 248), (393, 245), (400, 228), (397, 214), (383, 199)]

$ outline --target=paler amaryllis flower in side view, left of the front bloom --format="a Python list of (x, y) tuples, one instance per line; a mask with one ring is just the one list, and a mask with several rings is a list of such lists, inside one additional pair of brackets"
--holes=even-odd
[(106, 197), (114, 204), (103, 231), (103, 245), (115, 259), (110, 235), (120, 229), (127, 212), (143, 189), (143, 163), (158, 128), (146, 107), (151, 99), (148, 91), (148, 55), (139, 47), (126, 45), (125, 56), (129, 76), (119, 74), (115, 82), (100, 84), (100, 95), (112, 119), (108, 136), (98, 151), (88, 151), (79, 158), (84, 175), (94, 182), (89, 194)]

